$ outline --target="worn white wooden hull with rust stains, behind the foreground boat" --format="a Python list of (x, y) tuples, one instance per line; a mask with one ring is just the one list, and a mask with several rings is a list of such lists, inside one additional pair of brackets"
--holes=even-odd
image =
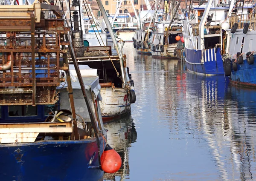
[(102, 87), (101, 95), (102, 118), (113, 118), (131, 112), (127, 88)]

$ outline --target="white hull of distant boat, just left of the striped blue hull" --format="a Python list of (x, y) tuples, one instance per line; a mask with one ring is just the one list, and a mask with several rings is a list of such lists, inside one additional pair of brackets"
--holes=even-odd
[(170, 45), (164, 45), (164, 51), (161, 52), (160, 45), (159, 48), (156, 51), (153, 51), (153, 46), (151, 46), (151, 54), (152, 57), (160, 57), (160, 58), (176, 58), (176, 55), (174, 55), (174, 51), (177, 47), (177, 43), (173, 43)]

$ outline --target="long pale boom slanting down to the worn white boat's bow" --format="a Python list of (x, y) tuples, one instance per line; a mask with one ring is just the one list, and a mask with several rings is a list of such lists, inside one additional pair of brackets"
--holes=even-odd
[(112, 26), (111, 26), (111, 23), (109, 22), (108, 20), (108, 16), (106, 14), (106, 11), (102, 5), (102, 2), (101, 0), (96, 0), (97, 3), (98, 3), (98, 6), (99, 6), (99, 10), (102, 12), (102, 17), (106, 23), (106, 26), (108, 28), (108, 31), (109, 31), (109, 34), (113, 40), (113, 43), (114, 43), (114, 46), (115, 46), (115, 49), (116, 49), (116, 52), (119, 56), (119, 59), (120, 59), (120, 69), (121, 69), (121, 78), (123, 80), (122, 82), (122, 88), (125, 88), (125, 84), (127, 83), (126, 79), (125, 79), (125, 72), (124, 72), (124, 65), (123, 65), (123, 55), (122, 55), (122, 51), (120, 50), (118, 44), (117, 44), (117, 41), (116, 41), (116, 37), (115, 37), (115, 34), (113, 32), (113, 29), (112, 29)]

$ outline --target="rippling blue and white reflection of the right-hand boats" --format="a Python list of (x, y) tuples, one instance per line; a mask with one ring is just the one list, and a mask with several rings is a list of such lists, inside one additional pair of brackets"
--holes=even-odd
[[(188, 72), (187, 80), (189, 117), (201, 120), (197, 129), (208, 142), (220, 179), (253, 180), (256, 91), (225, 83), (224, 76), (202, 77)], [(194, 86), (193, 92), (189, 84)], [(198, 94), (199, 99), (190, 99), (192, 94)]]

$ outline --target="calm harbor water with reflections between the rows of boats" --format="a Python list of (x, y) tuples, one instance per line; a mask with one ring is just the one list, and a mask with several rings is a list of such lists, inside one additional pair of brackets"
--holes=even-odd
[(106, 181), (256, 180), (256, 90), (200, 76), (125, 43), (137, 101), (105, 124), (122, 157)]

